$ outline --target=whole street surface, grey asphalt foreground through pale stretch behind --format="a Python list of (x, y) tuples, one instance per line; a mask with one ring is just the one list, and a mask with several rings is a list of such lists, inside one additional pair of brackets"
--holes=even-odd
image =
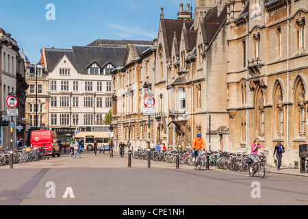
[(0, 167), (0, 205), (307, 205), (308, 178), (82, 153)]

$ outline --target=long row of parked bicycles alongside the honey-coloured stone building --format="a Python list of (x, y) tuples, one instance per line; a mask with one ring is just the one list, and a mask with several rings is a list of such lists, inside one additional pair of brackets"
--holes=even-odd
[[(264, 166), (264, 171), (268, 172), (270, 166), (266, 162), (266, 155), (268, 151), (264, 151), (264, 154), (259, 155), (259, 163)], [(207, 155), (209, 158), (207, 159)], [(147, 159), (147, 151), (144, 149), (139, 149), (132, 153), (135, 159)], [(203, 151), (201, 154), (201, 166), (207, 166), (207, 160), (209, 166), (214, 166), (223, 170), (233, 170), (233, 171), (248, 171), (249, 163), (247, 162), (249, 155), (246, 153), (229, 153), (227, 151)], [(155, 162), (167, 162), (176, 163), (177, 162), (177, 151), (151, 151), (151, 160)], [(188, 164), (190, 166), (194, 165), (192, 162), (192, 150), (179, 151), (179, 164)]]

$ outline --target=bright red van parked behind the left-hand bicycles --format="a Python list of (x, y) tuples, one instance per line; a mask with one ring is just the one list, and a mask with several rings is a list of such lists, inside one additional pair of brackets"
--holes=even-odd
[(57, 144), (57, 133), (51, 130), (31, 131), (30, 144), (32, 149), (44, 146), (45, 155), (60, 157), (60, 146)]

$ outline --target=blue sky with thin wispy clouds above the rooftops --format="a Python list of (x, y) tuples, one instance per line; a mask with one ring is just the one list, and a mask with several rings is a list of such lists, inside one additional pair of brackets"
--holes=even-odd
[(194, 7), (192, 0), (7, 0), (1, 1), (0, 27), (36, 64), (42, 47), (71, 49), (97, 39), (154, 40), (161, 8), (166, 19), (177, 19), (180, 3), (183, 10), (186, 3)]

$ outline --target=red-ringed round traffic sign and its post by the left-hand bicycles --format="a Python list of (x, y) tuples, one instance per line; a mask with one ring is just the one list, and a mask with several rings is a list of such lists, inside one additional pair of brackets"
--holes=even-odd
[[(18, 105), (18, 99), (16, 96), (8, 96), (6, 99), (6, 105), (10, 108), (14, 108)], [(11, 127), (11, 151), (10, 151), (10, 168), (13, 168), (13, 127), (14, 127), (14, 122), (12, 122), (13, 116), (18, 116), (18, 109), (10, 109), (8, 108), (7, 114), (8, 116), (11, 116), (11, 122), (10, 122), (10, 127)]]

